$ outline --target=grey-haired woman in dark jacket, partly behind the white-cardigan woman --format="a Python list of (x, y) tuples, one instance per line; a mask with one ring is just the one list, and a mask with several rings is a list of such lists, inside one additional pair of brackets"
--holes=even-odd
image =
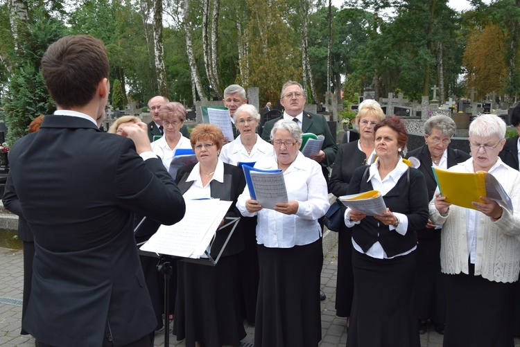
[[(455, 122), (448, 116), (433, 116), (424, 123), (422, 147), (406, 154), (415, 157), (419, 171), (426, 179), (428, 201), (433, 198), (437, 182), (432, 166), (446, 170), (469, 159), (469, 154), (449, 147), (455, 134)], [(428, 319), (439, 334), (444, 333), (446, 317), (446, 290), (444, 276), (440, 272), (440, 228), (428, 220), (428, 224), (417, 230), (417, 272), (415, 276), (415, 304), (419, 319), (419, 334), (426, 333)]]

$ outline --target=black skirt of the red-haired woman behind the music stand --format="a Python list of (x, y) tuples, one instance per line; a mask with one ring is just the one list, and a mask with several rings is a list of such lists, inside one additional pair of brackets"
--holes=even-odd
[(177, 263), (177, 300), (173, 332), (185, 346), (240, 346), (245, 337), (241, 312), (238, 256), (216, 266)]

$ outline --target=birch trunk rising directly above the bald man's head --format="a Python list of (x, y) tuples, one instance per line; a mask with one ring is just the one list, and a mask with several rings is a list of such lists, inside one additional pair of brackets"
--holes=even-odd
[(162, 38), (162, 0), (153, 3), (153, 46), (155, 53), (155, 73), (157, 74), (157, 88), (159, 94), (170, 98), (166, 68), (164, 67), (164, 41)]

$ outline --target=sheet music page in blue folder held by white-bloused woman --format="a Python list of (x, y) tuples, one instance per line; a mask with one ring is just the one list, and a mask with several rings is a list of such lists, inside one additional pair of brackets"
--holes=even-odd
[(277, 202), (288, 202), (284, 172), (267, 173), (251, 171), (254, 194), (263, 208), (275, 209)]

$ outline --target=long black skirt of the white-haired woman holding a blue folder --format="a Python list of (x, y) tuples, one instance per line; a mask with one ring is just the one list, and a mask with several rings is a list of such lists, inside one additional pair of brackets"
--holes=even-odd
[(258, 245), (255, 347), (315, 347), (321, 340), (322, 239), (292, 248)]

